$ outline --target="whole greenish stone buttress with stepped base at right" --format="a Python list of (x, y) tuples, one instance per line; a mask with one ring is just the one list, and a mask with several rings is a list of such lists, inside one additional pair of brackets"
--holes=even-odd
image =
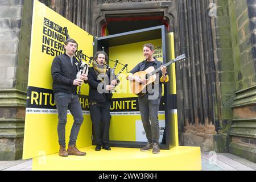
[(256, 64), (254, 22), (256, 1), (217, 1), (216, 39), (221, 98), (217, 151), (255, 160)]

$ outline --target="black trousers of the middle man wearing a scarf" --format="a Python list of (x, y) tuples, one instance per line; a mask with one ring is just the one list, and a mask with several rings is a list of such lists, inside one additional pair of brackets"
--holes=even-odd
[(93, 140), (96, 145), (109, 143), (110, 101), (90, 104), (90, 118), (93, 123)]

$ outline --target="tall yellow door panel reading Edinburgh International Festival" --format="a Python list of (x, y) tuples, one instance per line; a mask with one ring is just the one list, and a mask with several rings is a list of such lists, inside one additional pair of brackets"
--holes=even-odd
[[(39, 1), (34, 1), (23, 159), (54, 154), (59, 151), (57, 112), (52, 94), (51, 64), (55, 56), (63, 54), (65, 51), (64, 42), (67, 38), (64, 34), (64, 27), (67, 27), (69, 36), (77, 41), (77, 49), (82, 50), (82, 53), (88, 57), (93, 56), (92, 35)], [(77, 139), (78, 147), (90, 146), (92, 143), (88, 90), (88, 85), (83, 84), (80, 102), (84, 123)], [(72, 124), (73, 117), (68, 114), (67, 144)]]

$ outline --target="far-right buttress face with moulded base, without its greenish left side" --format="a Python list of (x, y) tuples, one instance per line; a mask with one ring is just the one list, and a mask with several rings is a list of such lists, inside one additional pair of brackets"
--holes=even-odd
[(233, 1), (233, 55), (236, 90), (229, 151), (256, 162), (255, 0)]

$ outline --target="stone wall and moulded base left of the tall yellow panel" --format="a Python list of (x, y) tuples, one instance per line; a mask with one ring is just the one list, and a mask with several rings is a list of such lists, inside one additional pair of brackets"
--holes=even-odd
[(0, 160), (22, 158), (32, 1), (0, 0)]

